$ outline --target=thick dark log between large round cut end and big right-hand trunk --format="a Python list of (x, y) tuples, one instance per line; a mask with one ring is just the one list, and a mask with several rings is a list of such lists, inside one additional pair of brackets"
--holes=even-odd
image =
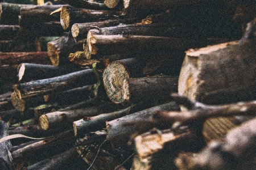
[[(123, 80), (122, 96), (115, 96), (113, 100), (122, 99), (121, 104), (141, 103), (148, 101), (170, 101), (170, 94), (177, 92), (177, 76), (154, 76), (144, 78), (127, 78)], [(169, 100), (168, 100), (169, 99)]]

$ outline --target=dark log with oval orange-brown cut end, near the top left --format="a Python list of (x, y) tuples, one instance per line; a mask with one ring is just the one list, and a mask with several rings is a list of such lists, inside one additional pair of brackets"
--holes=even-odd
[(63, 29), (71, 28), (75, 23), (99, 22), (102, 20), (118, 18), (119, 11), (87, 10), (85, 8), (61, 8), (60, 22)]

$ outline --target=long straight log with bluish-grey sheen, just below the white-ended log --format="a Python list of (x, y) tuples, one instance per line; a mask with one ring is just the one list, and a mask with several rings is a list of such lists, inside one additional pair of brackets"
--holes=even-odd
[(28, 83), (14, 85), (14, 90), (19, 99), (36, 95), (47, 95), (52, 92), (70, 90), (76, 87), (97, 83), (97, 78), (92, 69), (86, 69), (56, 76), (49, 79), (35, 80)]

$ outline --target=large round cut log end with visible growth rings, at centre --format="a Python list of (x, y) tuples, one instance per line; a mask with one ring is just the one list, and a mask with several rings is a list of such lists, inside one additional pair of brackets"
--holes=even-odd
[(103, 73), (103, 82), (109, 99), (115, 104), (123, 102), (123, 80), (129, 78), (129, 71), (120, 62), (112, 62)]

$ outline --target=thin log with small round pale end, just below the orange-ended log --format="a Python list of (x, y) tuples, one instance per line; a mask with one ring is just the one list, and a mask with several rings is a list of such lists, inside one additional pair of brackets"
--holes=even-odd
[(88, 31), (94, 27), (112, 27), (121, 23), (131, 24), (135, 23), (137, 19), (115, 19), (105, 20), (102, 22), (89, 22), (89, 23), (75, 23), (71, 27), (73, 37), (87, 37)]

